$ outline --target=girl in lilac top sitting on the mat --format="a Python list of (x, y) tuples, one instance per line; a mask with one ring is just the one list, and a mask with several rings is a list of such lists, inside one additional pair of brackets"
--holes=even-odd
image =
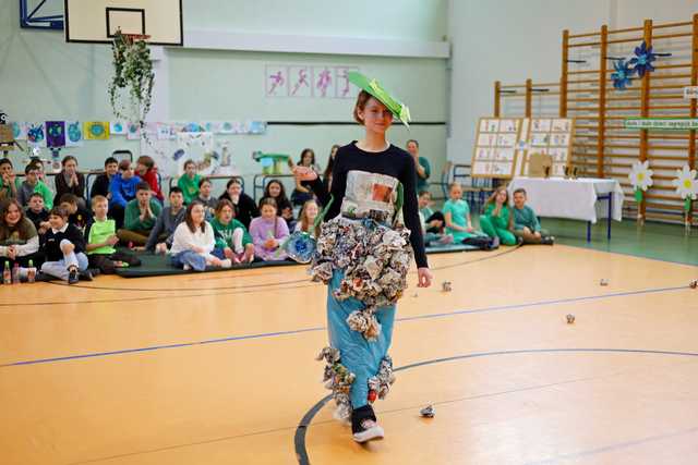
[(260, 203), (262, 216), (250, 223), (250, 235), (254, 243), (254, 255), (265, 261), (285, 260), (287, 255), (281, 244), (289, 236), (286, 221), (276, 215), (276, 201), (263, 198)]

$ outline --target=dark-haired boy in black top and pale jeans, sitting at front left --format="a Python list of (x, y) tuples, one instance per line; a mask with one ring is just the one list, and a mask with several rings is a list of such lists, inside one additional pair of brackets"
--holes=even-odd
[(51, 228), (41, 236), (41, 249), (46, 256), (41, 273), (68, 281), (69, 284), (75, 284), (79, 274), (91, 281), (85, 237), (77, 228), (68, 222), (68, 211), (61, 207), (53, 207), (49, 211), (48, 221)]

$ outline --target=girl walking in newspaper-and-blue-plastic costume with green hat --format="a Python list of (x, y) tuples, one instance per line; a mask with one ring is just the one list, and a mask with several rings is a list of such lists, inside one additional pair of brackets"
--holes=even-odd
[(327, 363), (324, 378), (337, 403), (336, 416), (350, 419), (353, 439), (364, 442), (384, 435), (371, 404), (395, 380), (387, 351), (412, 253), (418, 285), (431, 285), (432, 274), (418, 215), (414, 161), (386, 139), (393, 117), (407, 125), (409, 110), (375, 79), (349, 72), (349, 81), (362, 89), (353, 117), (365, 136), (337, 150), (332, 196), (314, 171), (297, 167), (294, 173), (312, 182), (321, 204), (332, 199), (311, 266), (313, 280), (328, 284), (330, 345), (318, 359)]

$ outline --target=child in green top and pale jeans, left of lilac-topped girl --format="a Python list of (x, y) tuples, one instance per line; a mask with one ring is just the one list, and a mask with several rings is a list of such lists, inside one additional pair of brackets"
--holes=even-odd
[(210, 225), (216, 236), (214, 255), (218, 258), (229, 258), (233, 264), (254, 261), (252, 237), (244, 224), (234, 219), (234, 207), (230, 200), (218, 200)]

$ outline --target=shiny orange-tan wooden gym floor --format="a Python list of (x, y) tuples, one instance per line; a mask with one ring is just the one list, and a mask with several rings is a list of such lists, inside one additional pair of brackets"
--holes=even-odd
[(695, 267), (561, 245), (430, 260), (368, 446), (322, 402), (304, 267), (0, 287), (0, 464), (697, 463)]

